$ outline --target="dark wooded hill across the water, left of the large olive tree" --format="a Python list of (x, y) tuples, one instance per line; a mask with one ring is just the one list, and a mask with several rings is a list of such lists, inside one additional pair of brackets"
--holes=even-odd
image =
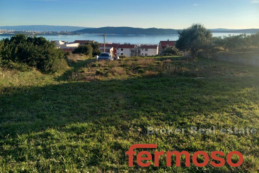
[(160, 28), (132, 28), (132, 27), (102, 27), (87, 28), (75, 31), (75, 33), (102, 33), (102, 34), (121, 34), (121, 35), (167, 35), (178, 34), (178, 29)]

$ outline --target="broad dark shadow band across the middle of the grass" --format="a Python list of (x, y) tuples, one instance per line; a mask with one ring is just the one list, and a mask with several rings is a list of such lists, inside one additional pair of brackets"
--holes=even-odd
[[(240, 77), (238, 81), (243, 81), (239, 83), (240, 89), (254, 87), (248, 78)], [(236, 84), (192, 78), (133, 78), (7, 90), (0, 98), (0, 137), (77, 122), (99, 123), (104, 117), (112, 117), (104, 125), (117, 126), (116, 119), (129, 121), (141, 118), (142, 114), (176, 121), (193, 114), (222, 111), (231, 106), (222, 98), (235, 93)], [(206, 103), (204, 98), (208, 96), (212, 100)], [(154, 116), (157, 113), (163, 116)]]

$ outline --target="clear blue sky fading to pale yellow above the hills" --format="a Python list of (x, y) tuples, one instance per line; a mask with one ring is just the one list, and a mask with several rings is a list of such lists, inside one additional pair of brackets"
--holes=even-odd
[(259, 0), (0, 0), (0, 26), (259, 28)]

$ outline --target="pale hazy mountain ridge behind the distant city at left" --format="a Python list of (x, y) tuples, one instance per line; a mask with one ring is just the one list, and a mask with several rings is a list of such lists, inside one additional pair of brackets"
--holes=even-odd
[(75, 31), (89, 27), (74, 27), (74, 26), (55, 26), (55, 25), (20, 25), (20, 26), (2, 26), (0, 29), (13, 30), (33, 30), (33, 31)]

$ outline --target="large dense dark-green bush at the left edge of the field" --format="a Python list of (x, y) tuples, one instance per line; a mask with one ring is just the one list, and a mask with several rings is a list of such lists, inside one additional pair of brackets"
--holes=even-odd
[[(43, 37), (27, 37), (24, 34), (16, 34), (6, 38), (0, 43), (0, 57), (2, 60), (10, 60), (6, 67), (19, 63), (30, 67), (36, 67), (44, 73), (59, 72), (68, 67), (65, 61), (65, 52), (57, 49), (54, 44)], [(5, 61), (7, 62), (7, 61)]]

